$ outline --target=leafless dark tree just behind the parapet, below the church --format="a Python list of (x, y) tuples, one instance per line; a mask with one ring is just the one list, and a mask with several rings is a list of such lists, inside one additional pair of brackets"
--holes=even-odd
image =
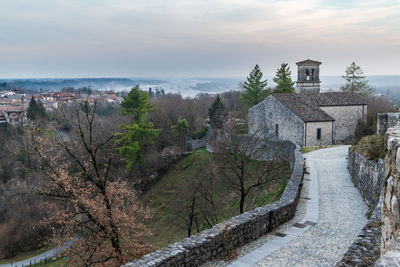
[(264, 126), (259, 126), (248, 135), (240, 135), (241, 123), (230, 118), (224, 128), (215, 132), (212, 146), (220, 174), (228, 186), (239, 193), (240, 213), (249, 193), (257, 187), (271, 184), (281, 177), (276, 171), (284, 162), (278, 161), (273, 151), (273, 143), (268, 142)]

